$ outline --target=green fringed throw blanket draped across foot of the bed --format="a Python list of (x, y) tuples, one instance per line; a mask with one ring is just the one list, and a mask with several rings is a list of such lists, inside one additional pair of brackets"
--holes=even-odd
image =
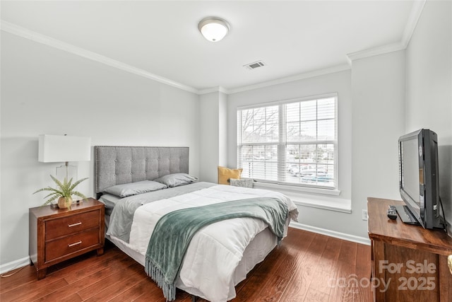
[(145, 255), (145, 272), (162, 289), (167, 301), (176, 298), (174, 280), (186, 249), (195, 233), (210, 223), (225, 219), (251, 217), (261, 219), (278, 243), (283, 238), (287, 204), (279, 199), (256, 197), (172, 211), (157, 221)]

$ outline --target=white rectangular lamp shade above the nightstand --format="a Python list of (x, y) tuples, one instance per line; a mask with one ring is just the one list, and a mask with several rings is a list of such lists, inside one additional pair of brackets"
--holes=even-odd
[(39, 136), (38, 161), (57, 163), (66, 161), (90, 161), (91, 138), (67, 135)]

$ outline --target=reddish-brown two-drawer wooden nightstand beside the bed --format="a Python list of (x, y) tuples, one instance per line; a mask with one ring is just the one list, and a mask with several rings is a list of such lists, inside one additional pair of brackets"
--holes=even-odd
[(47, 267), (91, 250), (104, 253), (104, 204), (96, 199), (83, 199), (69, 209), (50, 206), (29, 210), (30, 260), (36, 267), (37, 279), (45, 277)]

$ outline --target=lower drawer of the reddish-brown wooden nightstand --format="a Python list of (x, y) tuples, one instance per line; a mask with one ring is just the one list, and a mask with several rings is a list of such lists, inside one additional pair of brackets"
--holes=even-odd
[(100, 244), (99, 233), (99, 228), (94, 228), (90, 231), (47, 242), (45, 262)]

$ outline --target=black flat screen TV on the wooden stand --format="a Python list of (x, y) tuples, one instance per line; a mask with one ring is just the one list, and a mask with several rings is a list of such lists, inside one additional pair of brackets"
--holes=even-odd
[[(440, 215), (438, 179), (438, 136), (420, 129), (398, 139), (400, 195), (405, 202), (398, 208), (400, 218), (424, 228), (444, 228)], [(400, 213), (405, 211), (405, 213)], [(403, 216), (410, 216), (408, 221)]]

